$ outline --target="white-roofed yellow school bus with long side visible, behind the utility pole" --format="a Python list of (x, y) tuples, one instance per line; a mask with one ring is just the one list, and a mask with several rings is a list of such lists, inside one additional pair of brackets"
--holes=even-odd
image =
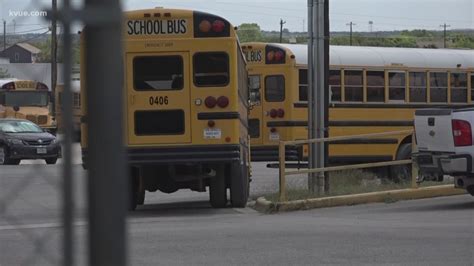
[[(242, 48), (251, 91), (262, 94), (260, 106), (250, 113), (252, 160), (277, 160), (278, 140), (308, 137), (308, 48), (265, 43)], [(277, 82), (268, 82), (275, 76)], [(473, 77), (473, 50), (331, 46), (329, 136), (412, 129), (415, 109), (473, 106)], [(408, 135), (333, 142), (329, 162), (406, 159), (410, 145)], [(286, 157), (303, 160), (306, 155), (304, 148)]]

